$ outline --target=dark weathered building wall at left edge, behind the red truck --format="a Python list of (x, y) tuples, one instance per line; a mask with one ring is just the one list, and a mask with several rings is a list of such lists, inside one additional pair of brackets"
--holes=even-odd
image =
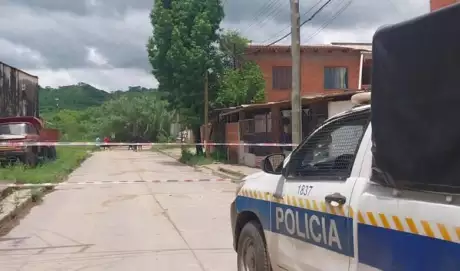
[(38, 77), (0, 62), (0, 117), (39, 116)]

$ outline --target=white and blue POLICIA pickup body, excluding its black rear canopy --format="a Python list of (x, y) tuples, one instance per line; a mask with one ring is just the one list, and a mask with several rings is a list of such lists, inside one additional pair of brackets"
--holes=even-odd
[(370, 117), (332, 117), (239, 184), (238, 270), (460, 270), (459, 202), (373, 182)]

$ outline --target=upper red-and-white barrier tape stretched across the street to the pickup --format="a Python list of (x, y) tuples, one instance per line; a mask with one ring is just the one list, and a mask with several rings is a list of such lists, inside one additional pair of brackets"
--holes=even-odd
[(284, 143), (127, 143), (127, 142), (0, 142), (0, 147), (28, 147), (28, 146), (260, 146), (260, 147), (295, 147), (297, 144)]

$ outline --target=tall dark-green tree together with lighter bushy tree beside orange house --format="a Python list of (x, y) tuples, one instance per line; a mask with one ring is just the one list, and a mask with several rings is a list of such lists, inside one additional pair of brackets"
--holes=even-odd
[[(264, 79), (259, 67), (245, 61), (249, 40), (225, 31), (222, 1), (155, 1), (153, 26), (147, 44), (152, 73), (171, 109), (193, 129), (200, 141), (204, 117), (205, 78), (211, 108), (264, 100)], [(197, 153), (202, 148), (197, 146)]]

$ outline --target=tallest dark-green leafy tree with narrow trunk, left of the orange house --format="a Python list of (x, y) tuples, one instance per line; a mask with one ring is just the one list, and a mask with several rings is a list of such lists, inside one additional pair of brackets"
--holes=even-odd
[[(153, 34), (147, 44), (158, 91), (177, 109), (201, 141), (204, 77), (208, 70), (210, 99), (215, 97), (221, 71), (219, 25), (224, 17), (220, 0), (155, 1), (150, 14)], [(197, 146), (197, 153), (202, 153)]]

